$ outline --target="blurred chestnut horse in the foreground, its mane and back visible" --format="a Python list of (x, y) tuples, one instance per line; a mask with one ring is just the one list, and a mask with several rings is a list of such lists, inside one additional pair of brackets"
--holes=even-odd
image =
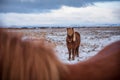
[(120, 41), (77, 64), (63, 64), (50, 47), (0, 29), (0, 80), (120, 80)]

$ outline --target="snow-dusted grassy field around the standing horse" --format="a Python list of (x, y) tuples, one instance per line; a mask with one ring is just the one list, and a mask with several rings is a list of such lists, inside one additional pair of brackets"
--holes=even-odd
[(81, 44), (79, 57), (75, 60), (68, 60), (68, 50), (66, 47), (66, 28), (46, 28), (46, 29), (9, 29), (10, 32), (22, 33), (22, 39), (41, 39), (54, 45), (54, 50), (58, 58), (69, 64), (87, 60), (96, 55), (106, 45), (120, 40), (120, 27), (114, 28), (75, 28), (81, 34)]

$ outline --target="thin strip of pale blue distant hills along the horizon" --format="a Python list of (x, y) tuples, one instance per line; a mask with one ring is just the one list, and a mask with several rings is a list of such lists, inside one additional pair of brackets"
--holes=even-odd
[[(43, 25), (43, 26), (9, 26), (9, 27), (3, 27), (3, 28), (22, 28), (22, 29), (37, 29), (37, 28), (64, 28), (64, 27), (120, 27), (120, 24), (91, 24), (91, 25), (77, 25), (77, 24), (72, 24), (72, 25)], [(1, 27), (0, 27), (1, 28)]]

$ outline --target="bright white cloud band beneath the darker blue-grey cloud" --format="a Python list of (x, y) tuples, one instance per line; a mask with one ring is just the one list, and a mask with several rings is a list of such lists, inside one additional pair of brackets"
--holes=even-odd
[(0, 20), (5, 26), (120, 24), (119, 3), (97, 2), (88, 7), (62, 6), (46, 13), (1, 13)]

